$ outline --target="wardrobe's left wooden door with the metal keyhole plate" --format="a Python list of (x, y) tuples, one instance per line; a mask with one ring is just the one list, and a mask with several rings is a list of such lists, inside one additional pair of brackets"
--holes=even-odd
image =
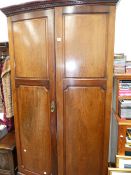
[(19, 172), (56, 175), (54, 10), (8, 23)]

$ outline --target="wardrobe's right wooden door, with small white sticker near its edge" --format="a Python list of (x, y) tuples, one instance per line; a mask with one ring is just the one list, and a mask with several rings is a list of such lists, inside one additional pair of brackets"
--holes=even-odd
[(56, 8), (59, 175), (106, 175), (114, 7)]

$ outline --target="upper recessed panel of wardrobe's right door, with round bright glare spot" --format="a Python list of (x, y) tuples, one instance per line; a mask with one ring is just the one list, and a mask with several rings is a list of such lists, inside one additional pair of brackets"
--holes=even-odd
[(104, 77), (106, 38), (105, 14), (65, 15), (65, 77)]

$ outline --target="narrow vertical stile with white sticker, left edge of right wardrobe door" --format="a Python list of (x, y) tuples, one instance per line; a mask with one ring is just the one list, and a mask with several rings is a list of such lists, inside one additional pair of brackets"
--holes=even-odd
[(57, 150), (58, 175), (64, 175), (63, 155), (63, 31), (62, 8), (55, 8), (55, 48), (56, 48), (56, 97), (57, 97)]

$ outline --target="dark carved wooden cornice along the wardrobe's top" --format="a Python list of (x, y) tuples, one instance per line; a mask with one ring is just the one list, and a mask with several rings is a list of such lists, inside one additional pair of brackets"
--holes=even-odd
[(71, 6), (71, 5), (116, 5), (119, 0), (39, 0), (27, 2), (19, 5), (13, 5), (4, 7), (1, 11), (6, 16), (17, 15), (24, 12), (41, 10), (59, 6)]

